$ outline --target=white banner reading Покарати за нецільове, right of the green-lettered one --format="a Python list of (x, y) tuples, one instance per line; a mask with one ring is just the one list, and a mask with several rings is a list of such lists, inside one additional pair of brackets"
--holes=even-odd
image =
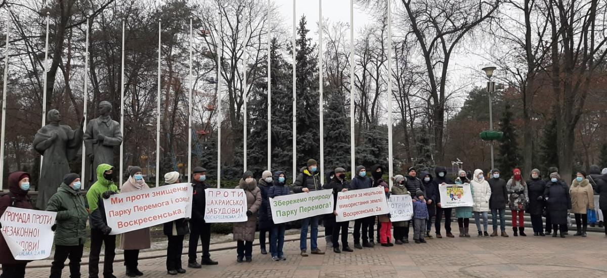
[(390, 213), (384, 188), (367, 188), (337, 194), (337, 222)]

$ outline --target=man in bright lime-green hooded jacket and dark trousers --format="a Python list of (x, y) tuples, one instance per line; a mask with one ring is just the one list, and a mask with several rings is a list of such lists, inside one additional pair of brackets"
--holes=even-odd
[(90, 210), (90, 255), (89, 255), (89, 278), (97, 278), (99, 274), (99, 254), (101, 245), (105, 245), (103, 262), (103, 277), (115, 278), (114, 256), (116, 255), (116, 236), (111, 236), (112, 228), (107, 226), (106, 212), (103, 199), (118, 193), (114, 185), (114, 167), (109, 164), (100, 164), (97, 167), (97, 181), (86, 193)]

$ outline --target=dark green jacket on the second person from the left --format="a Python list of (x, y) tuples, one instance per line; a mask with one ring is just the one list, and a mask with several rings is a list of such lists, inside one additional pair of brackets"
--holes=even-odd
[(56, 211), (55, 245), (76, 246), (86, 242), (87, 203), (80, 192), (61, 183), (50, 197), (47, 211)]

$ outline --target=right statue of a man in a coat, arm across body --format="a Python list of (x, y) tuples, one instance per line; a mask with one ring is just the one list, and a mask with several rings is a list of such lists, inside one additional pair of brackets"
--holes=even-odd
[(99, 164), (114, 165), (114, 147), (122, 144), (120, 124), (110, 118), (112, 104), (109, 101), (101, 101), (97, 112), (99, 117), (89, 121), (84, 132), (86, 157), (92, 163), (89, 181), (97, 180)]

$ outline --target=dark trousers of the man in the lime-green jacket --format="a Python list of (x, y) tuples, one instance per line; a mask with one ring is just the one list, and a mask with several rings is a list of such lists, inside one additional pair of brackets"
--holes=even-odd
[(103, 234), (101, 229), (90, 229), (89, 278), (99, 275), (99, 254), (101, 245), (105, 245), (103, 256), (103, 276), (110, 277), (114, 273), (114, 257), (116, 256), (116, 236)]

